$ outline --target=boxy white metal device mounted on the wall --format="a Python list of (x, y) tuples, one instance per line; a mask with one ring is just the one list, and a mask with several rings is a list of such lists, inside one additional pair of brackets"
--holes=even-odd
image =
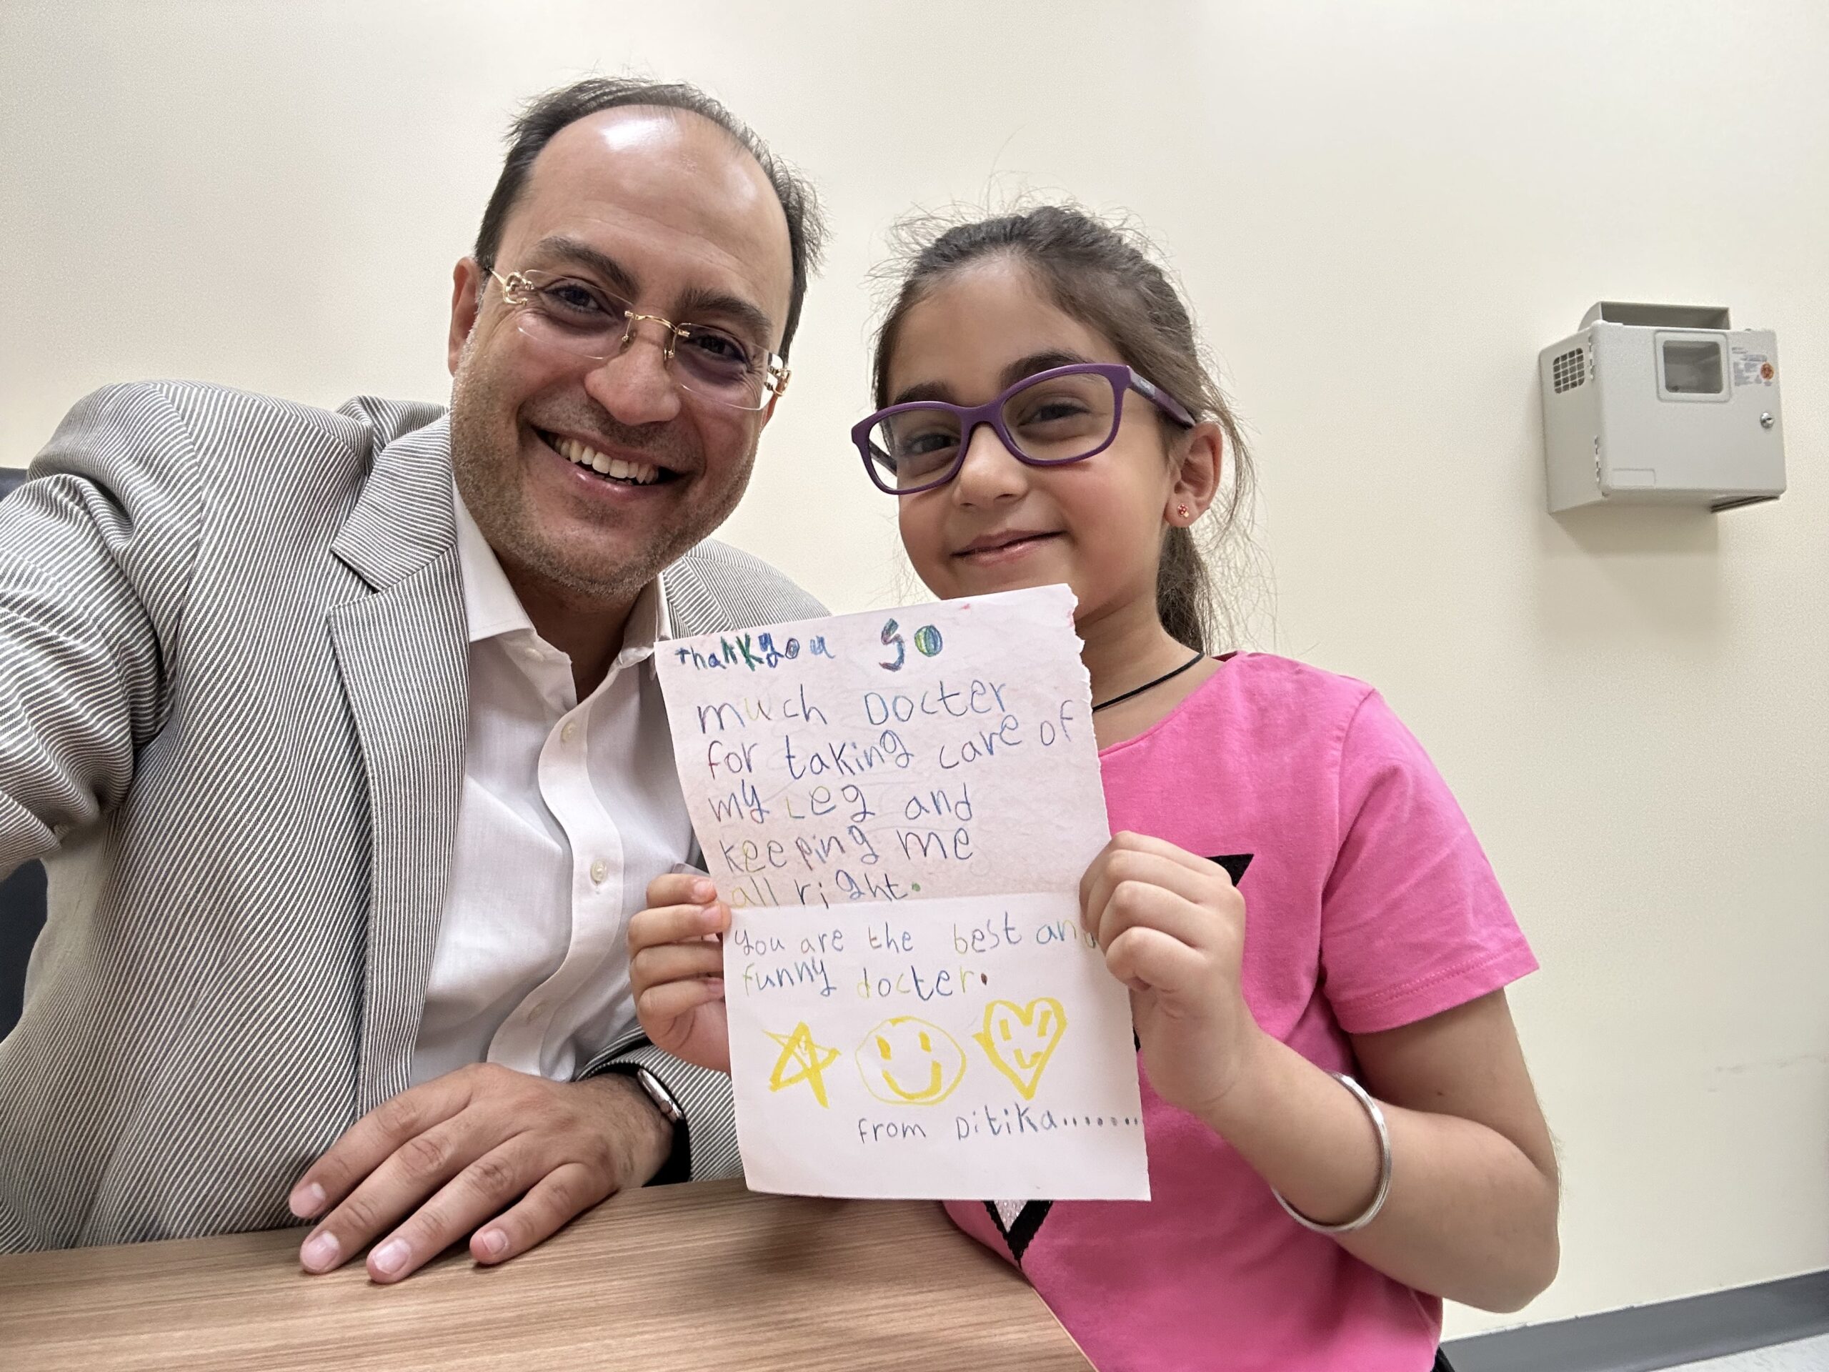
[(1549, 510), (1706, 505), (1785, 490), (1778, 340), (1714, 305), (1602, 300), (1536, 355)]

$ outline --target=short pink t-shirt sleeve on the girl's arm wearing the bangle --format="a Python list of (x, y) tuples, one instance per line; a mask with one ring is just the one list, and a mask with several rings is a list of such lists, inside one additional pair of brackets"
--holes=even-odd
[(1321, 970), (1342, 1030), (1414, 1024), (1536, 970), (1467, 816), (1375, 691), (1341, 745), (1339, 834)]

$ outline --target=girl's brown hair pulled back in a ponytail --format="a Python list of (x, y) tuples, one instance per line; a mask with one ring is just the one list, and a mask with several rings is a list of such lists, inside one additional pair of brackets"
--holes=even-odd
[[(876, 337), (876, 404), (889, 404), (889, 359), (909, 309), (951, 273), (986, 258), (1011, 258), (1035, 274), (1063, 313), (1118, 344), (1123, 362), (1185, 404), (1196, 421), (1211, 419), (1220, 426), (1231, 479), (1216, 501), (1211, 538), (1216, 541), (1231, 532), (1240, 512), (1249, 509), (1251, 454), (1207, 364), (1194, 320), (1141, 234), (1072, 205), (953, 223), (938, 232), (929, 225), (909, 221), (898, 234), (907, 245), (902, 254), (905, 265), (898, 271), (900, 289)], [(1183, 432), (1167, 413), (1160, 419), (1165, 441)], [(1222, 646), (1220, 637), (1233, 637), (1229, 607), (1213, 591), (1209, 552), (1193, 529), (1171, 525), (1163, 531), (1156, 613), (1163, 627), (1189, 648), (1213, 651)]]

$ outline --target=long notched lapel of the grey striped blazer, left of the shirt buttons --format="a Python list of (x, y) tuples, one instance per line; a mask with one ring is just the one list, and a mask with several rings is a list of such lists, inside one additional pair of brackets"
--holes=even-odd
[(444, 421), (380, 452), (331, 551), (369, 587), (329, 613), (368, 777), (366, 1114), (410, 1079), (463, 796), (470, 662)]

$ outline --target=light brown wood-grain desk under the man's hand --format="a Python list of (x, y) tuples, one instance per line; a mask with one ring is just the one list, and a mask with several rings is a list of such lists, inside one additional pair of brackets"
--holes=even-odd
[(298, 1268), (302, 1229), (0, 1255), (0, 1368), (1079, 1368), (1006, 1262), (909, 1200), (635, 1191), (501, 1268)]

